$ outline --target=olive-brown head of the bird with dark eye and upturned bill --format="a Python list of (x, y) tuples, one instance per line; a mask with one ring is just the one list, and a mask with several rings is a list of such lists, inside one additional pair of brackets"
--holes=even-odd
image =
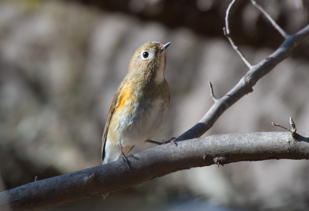
[(165, 49), (170, 44), (170, 42), (165, 45), (159, 42), (147, 42), (139, 47), (131, 58), (128, 74), (142, 77), (147, 81), (164, 80)]

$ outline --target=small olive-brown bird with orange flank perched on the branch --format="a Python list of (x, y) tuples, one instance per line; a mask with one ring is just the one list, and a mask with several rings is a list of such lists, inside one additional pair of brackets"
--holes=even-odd
[[(103, 164), (123, 159), (134, 145), (151, 140), (162, 126), (170, 101), (164, 78), (165, 45), (148, 42), (133, 54), (128, 74), (117, 88), (103, 133)], [(130, 168), (129, 168), (130, 170)], [(131, 170), (130, 170), (131, 171)]]

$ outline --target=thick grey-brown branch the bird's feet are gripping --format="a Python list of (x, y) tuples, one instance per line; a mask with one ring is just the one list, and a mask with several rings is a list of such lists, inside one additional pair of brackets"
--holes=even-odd
[(43, 179), (0, 193), (0, 210), (42, 210), (115, 192), (171, 172), (193, 167), (269, 159), (309, 159), (309, 133), (258, 132), (223, 134), (163, 144), (129, 159)]

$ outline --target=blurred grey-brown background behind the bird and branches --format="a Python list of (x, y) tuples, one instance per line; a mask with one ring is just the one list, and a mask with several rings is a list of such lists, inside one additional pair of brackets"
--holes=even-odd
[[(171, 42), (171, 101), (153, 140), (179, 136), (248, 71), (223, 35), (231, 0), (0, 0), (0, 191), (101, 165), (102, 134), (135, 50)], [(293, 34), (309, 23), (307, 0), (260, 0)], [(283, 41), (239, 0), (231, 34), (251, 64)], [(204, 136), (282, 131), (293, 117), (309, 132), (309, 42), (262, 78)], [(235, 123), (235, 121), (237, 123)], [(134, 153), (154, 147), (145, 144)], [(168, 174), (60, 210), (308, 210), (309, 161), (269, 160)]]

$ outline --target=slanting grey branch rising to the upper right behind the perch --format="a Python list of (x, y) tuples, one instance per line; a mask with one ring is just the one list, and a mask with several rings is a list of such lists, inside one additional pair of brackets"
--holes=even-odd
[(297, 45), (307, 41), (308, 39), (309, 25), (307, 25), (296, 34), (288, 36), (286, 40), (279, 46), (279, 48), (273, 52), (273, 54), (269, 55), (268, 58), (253, 66), (247, 72), (247, 74), (241, 78), (238, 84), (231, 89), (231, 91), (226, 93), (226, 95), (224, 95), (222, 98), (217, 99), (210, 110), (208, 110), (205, 116), (200, 120), (200, 122), (190, 128), (188, 131), (184, 132), (177, 139), (181, 141), (201, 137), (214, 125), (214, 123), (223, 114), (224, 111), (226, 111), (244, 95), (253, 92), (252, 87), (258, 80), (260, 80), (260, 78), (269, 73), (284, 59), (290, 57), (291, 51)]

